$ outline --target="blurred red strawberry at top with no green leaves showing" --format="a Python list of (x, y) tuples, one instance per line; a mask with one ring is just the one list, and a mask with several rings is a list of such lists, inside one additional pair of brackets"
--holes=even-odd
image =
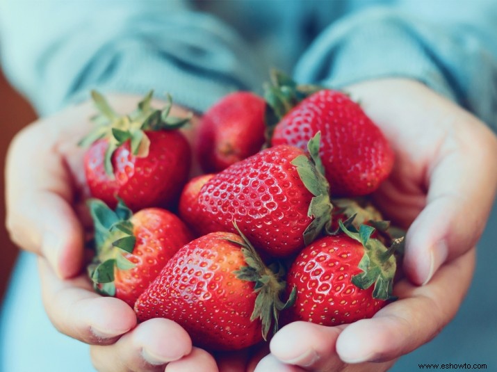
[(266, 102), (234, 92), (209, 108), (199, 122), (197, 154), (204, 172), (219, 172), (258, 152), (265, 142)]

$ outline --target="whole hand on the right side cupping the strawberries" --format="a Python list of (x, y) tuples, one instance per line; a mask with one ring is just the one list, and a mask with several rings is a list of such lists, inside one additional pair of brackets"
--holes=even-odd
[(385, 371), (438, 334), (471, 282), (497, 188), (496, 137), (421, 83), (384, 79), (347, 90), (396, 152), (391, 177), (373, 197), (386, 218), (409, 227), (404, 270), (424, 285), (402, 280), (398, 301), (352, 325), (287, 325), (256, 371)]

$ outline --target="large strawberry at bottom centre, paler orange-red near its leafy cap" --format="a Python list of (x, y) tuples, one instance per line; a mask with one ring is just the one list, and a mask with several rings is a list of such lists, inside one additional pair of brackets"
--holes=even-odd
[(184, 245), (136, 301), (138, 321), (171, 319), (209, 350), (238, 350), (266, 339), (295, 292), (288, 302), (279, 300), (282, 271), (266, 267), (239, 234), (213, 232)]

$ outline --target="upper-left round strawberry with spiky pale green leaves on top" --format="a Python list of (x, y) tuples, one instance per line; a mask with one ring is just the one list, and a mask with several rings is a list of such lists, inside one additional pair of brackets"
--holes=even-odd
[(170, 96), (163, 110), (152, 108), (152, 92), (129, 115), (117, 115), (95, 91), (92, 97), (99, 126), (80, 142), (89, 147), (84, 169), (91, 195), (111, 208), (117, 197), (133, 211), (172, 207), (190, 172), (190, 145), (178, 130), (188, 118), (168, 116)]

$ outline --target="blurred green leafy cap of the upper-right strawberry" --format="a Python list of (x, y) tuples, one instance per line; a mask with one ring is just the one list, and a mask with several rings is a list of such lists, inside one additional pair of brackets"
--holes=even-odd
[(266, 99), (267, 142), (270, 142), (276, 124), (288, 111), (309, 95), (322, 89), (324, 88), (321, 86), (298, 84), (283, 72), (270, 70), (270, 81), (263, 85), (264, 99)]

